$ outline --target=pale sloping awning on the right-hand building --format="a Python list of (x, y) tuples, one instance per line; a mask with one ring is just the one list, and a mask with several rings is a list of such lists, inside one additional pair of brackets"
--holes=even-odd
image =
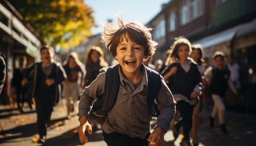
[(226, 41), (232, 40), (233, 36), (237, 32), (238, 29), (242, 24), (231, 27), (230, 29), (224, 30), (219, 33), (215, 33), (213, 35), (206, 36), (204, 38), (201, 38), (200, 40), (193, 41), (193, 44), (201, 44), (202, 47), (205, 49), (207, 47), (215, 46), (216, 44), (224, 43)]

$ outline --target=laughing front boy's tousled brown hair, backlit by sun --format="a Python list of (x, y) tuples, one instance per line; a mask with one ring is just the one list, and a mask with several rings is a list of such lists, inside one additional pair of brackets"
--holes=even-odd
[(152, 40), (151, 30), (138, 22), (124, 23), (122, 16), (118, 16), (118, 26), (112, 22), (107, 22), (101, 32), (102, 42), (110, 50), (113, 57), (116, 56), (116, 47), (123, 39), (130, 39), (132, 42), (140, 44), (145, 49), (146, 60), (155, 54), (157, 42)]

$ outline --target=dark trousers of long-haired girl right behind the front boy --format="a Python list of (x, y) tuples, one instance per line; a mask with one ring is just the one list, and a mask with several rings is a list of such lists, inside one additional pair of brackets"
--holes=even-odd
[(182, 118), (180, 118), (174, 126), (177, 130), (179, 130), (180, 127), (183, 127), (184, 140), (190, 140), (190, 130), (192, 127), (192, 116), (194, 106), (190, 105), (190, 103), (187, 103), (183, 100), (177, 102), (176, 106)]

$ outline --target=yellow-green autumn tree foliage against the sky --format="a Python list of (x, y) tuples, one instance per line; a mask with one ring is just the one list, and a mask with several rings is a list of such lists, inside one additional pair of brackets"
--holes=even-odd
[(69, 49), (87, 40), (93, 10), (81, 0), (9, 0), (44, 42)]

